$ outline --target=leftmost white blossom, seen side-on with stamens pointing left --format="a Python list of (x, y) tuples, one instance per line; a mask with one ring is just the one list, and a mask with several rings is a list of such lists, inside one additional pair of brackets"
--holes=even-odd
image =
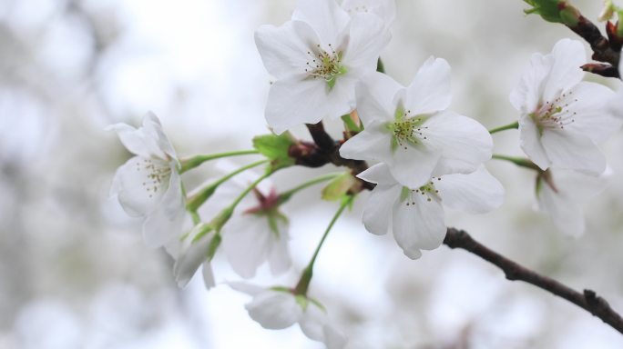
[(117, 131), (121, 143), (136, 155), (117, 169), (110, 194), (117, 195), (129, 215), (146, 217), (146, 244), (166, 244), (179, 235), (186, 212), (175, 150), (152, 113), (138, 129), (126, 124), (107, 129)]

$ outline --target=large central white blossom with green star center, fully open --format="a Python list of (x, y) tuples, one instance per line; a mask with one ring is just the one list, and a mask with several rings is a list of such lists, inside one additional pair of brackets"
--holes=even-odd
[(431, 176), (470, 173), (491, 158), (493, 141), (483, 125), (446, 110), (452, 98), (450, 65), (429, 58), (404, 88), (387, 75), (367, 75), (357, 88), (365, 129), (340, 155), (383, 162), (411, 188)]

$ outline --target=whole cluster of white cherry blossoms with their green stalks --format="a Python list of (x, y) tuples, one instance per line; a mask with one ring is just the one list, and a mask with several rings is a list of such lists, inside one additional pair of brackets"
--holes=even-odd
[[(206, 287), (213, 287), (211, 260), (218, 251), (244, 279), (264, 263), (272, 274), (287, 272), (291, 233), (282, 205), (323, 181), (332, 180), (323, 190), (325, 198), (342, 198), (334, 220), (362, 191), (363, 182), (353, 175), (373, 187), (363, 226), (373, 234), (393, 234), (412, 259), (443, 244), (444, 207), (483, 214), (503, 203), (504, 187), (485, 168), (495, 132), (450, 109), (448, 62), (430, 57), (408, 86), (377, 70), (394, 17), (393, 0), (345, 0), (342, 5), (299, 0), (290, 21), (261, 26), (255, 42), (275, 78), (265, 117), (276, 135), (256, 137), (255, 151), (180, 160), (153, 114), (139, 128), (110, 126), (135, 155), (117, 170), (111, 194), (129, 215), (144, 218), (145, 242), (164, 247), (175, 259), (180, 287), (199, 268)], [(532, 56), (510, 94), (519, 113), (520, 145), (529, 158), (513, 161), (536, 170), (539, 206), (572, 235), (584, 229), (580, 203), (602, 190), (611, 172), (598, 144), (623, 123), (623, 89), (615, 94), (604, 85), (583, 82), (579, 66), (585, 57), (581, 43), (561, 40), (551, 54)], [(295, 164), (289, 151), (295, 141), (287, 131), (340, 117), (350, 126), (339, 155), (365, 161), (367, 169), (323, 176), (283, 193), (267, 184), (274, 172)], [(184, 172), (211, 159), (250, 154), (265, 159), (230, 169), (186, 193)], [(263, 175), (246, 172), (260, 165), (266, 166)], [(204, 222), (199, 208), (214, 201), (212, 195), (222, 193), (225, 182), (236, 184), (236, 193), (227, 199), (231, 204), (218, 214), (210, 210), (213, 216)], [(346, 344), (322, 304), (307, 294), (313, 263), (331, 227), (295, 286), (229, 283), (252, 297), (246, 307), (253, 320), (269, 329), (299, 324), (303, 334), (330, 348)]]

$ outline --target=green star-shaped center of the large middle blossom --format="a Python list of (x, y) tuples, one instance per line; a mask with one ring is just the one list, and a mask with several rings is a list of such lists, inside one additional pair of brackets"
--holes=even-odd
[(393, 123), (387, 125), (388, 130), (393, 134), (392, 149), (398, 146), (407, 149), (408, 145), (422, 145), (422, 140), (427, 139), (424, 132), (428, 127), (423, 126), (425, 118), (422, 116), (412, 116), (411, 111), (403, 112), (402, 109), (396, 110), (396, 117)]

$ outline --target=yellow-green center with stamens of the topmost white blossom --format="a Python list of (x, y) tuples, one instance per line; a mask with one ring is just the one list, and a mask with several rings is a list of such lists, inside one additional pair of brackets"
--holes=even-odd
[(335, 52), (329, 44), (329, 50), (325, 51), (321, 45), (316, 45), (315, 52), (307, 51), (311, 61), (307, 62), (305, 73), (314, 79), (323, 79), (332, 89), (337, 77), (346, 74), (346, 67), (342, 65), (342, 52)]

